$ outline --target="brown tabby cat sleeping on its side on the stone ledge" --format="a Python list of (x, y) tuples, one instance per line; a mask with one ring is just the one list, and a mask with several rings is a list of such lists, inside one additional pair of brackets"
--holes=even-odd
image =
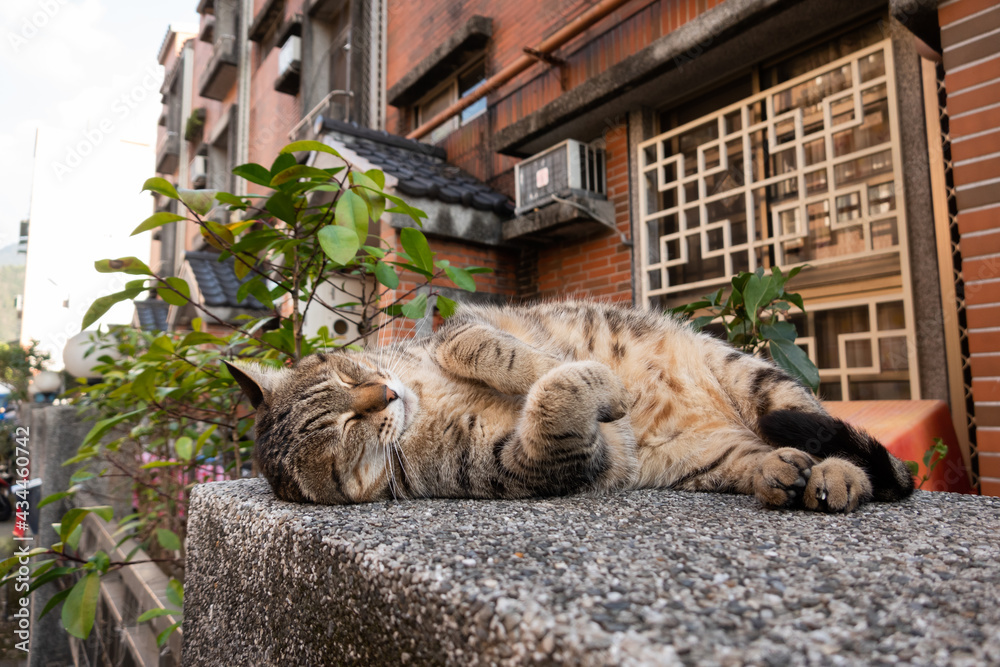
[(849, 512), (913, 490), (902, 461), (774, 364), (606, 304), (465, 306), (392, 352), (227, 366), (284, 500), (659, 487)]

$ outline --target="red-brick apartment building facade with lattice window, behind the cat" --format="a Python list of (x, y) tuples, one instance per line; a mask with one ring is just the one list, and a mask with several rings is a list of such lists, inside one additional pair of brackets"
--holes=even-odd
[[(793, 320), (823, 396), (947, 401), (1000, 494), (1000, 7), (526, 9), (202, 0), (161, 49), (157, 169), (229, 188), (325, 141), (429, 213), (440, 258), (492, 268), (473, 298), (496, 302), (664, 309), (807, 265)], [(382, 222), (390, 242), (407, 224)], [(194, 271), (199, 243), (164, 228), (154, 262)]]

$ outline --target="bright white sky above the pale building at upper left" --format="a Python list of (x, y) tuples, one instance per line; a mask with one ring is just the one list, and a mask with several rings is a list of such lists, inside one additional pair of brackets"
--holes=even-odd
[[(156, 58), (167, 27), (197, 24), (196, 7), (196, 0), (0, 2), (0, 247), (17, 240), (28, 217), (35, 130), (79, 129), (83, 140), (81, 121), (99, 127), (103, 117), (117, 118), (120, 104), (134, 102), (122, 96), (149, 72), (162, 80)], [(156, 118), (146, 141), (155, 141)], [(143, 140), (121, 136), (127, 129), (118, 123), (106, 139)]]

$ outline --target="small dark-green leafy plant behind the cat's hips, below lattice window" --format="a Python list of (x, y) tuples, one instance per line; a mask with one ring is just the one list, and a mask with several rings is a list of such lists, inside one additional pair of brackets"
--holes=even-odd
[(803, 268), (795, 267), (787, 274), (776, 266), (770, 274), (763, 268), (753, 273), (743, 271), (733, 277), (728, 296), (725, 296), (726, 288), (720, 287), (713, 294), (670, 312), (690, 321), (699, 331), (711, 324), (721, 324), (733, 347), (748, 354), (766, 352), (776, 364), (817, 391), (819, 371), (795, 344), (798, 331), (788, 320), (793, 305), (805, 310), (802, 297), (785, 290), (788, 281)]

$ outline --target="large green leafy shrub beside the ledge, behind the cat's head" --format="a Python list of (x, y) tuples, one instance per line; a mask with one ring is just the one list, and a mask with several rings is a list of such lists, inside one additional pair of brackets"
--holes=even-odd
[[(342, 164), (325, 169), (300, 164), (295, 154), (303, 151), (326, 153)], [(116, 549), (130, 538), (139, 545), (122, 560), (103, 551), (81, 553), (86, 514), (105, 521), (114, 517), (111, 508), (73, 508), (63, 516), (60, 542), (33, 552), (36, 559), (49, 559), (34, 563), (32, 586), (73, 579), (43, 613), (62, 603), (63, 626), (75, 636), (86, 637), (93, 627), (100, 577), (136, 562), (138, 548), (174, 577), (168, 599), (177, 608), (147, 610), (140, 620), (182, 611), (192, 488), (252, 474), (253, 414), (223, 359), (238, 355), (287, 366), (318, 350), (375, 338), (398, 320), (423, 318), (429, 297), (436, 297), (440, 313), (450, 316), (455, 303), (436, 286), (447, 280), (475, 291), (475, 275), (488, 270), (436, 259), (419, 229), (426, 214), (385, 192), (381, 171), (355, 170), (325, 144), (295, 142), (270, 167), (245, 164), (233, 173), (268, 192), (179, 190), (151, 178), (144, 190), (176, 200), (184, 213), (154, 213), (133, 234), (174, 223), (197, 225), (205, 243), (219, 252), (219, 261), (232, 258), (241, 281), (236, 296), (241, 302), (253, 297), (259, 304), (255, 310), (224, 319), (194, 298), (183, 278), (158, 273), (135, 257), (95, 263), (97, 271), (126, 279), (123, 289), (93, 303), (84, 329), (116, 303), (149, 294), (196, 316), (190, 331), (113, 327), (94, 336), (90, 354), (99, 361), (95, 370), (102, 379), (81, 382), (69, 392), (93, 427), (76, 456), (64, 462), (78, 467), (71, 477), (74, 486), (42, 504), (64, 500), (100, 478), (128, 480), (134, 507), (117, 518)], [(379, 235), (374, 223), (384, 213), (408, 216), (415, 225), (401, 230), (401, 247)], [(307, 331), (306, 315), (315, 308), (329, 311), (331, 322), (353, 323), (358, 336), (347, 339), (326, 326)], [(13, 576), (16, 560), (0, 563), (3, 581)], [(174, 627), (159, 634), (161, 645)]]

